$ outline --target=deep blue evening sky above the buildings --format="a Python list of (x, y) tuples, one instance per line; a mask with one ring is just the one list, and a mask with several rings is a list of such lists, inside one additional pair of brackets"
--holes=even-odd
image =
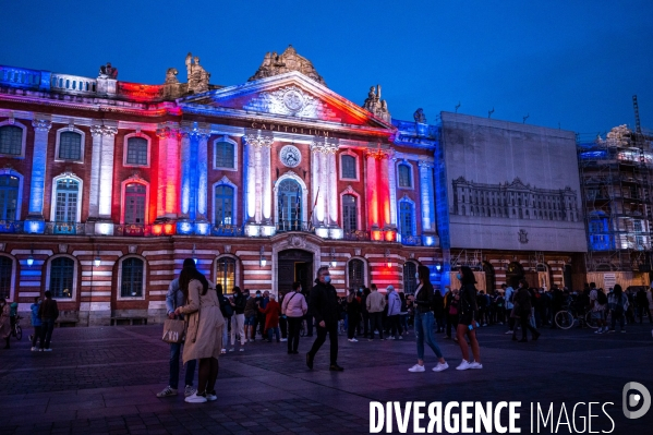
[(211, 83), (245, 82), (292, 44), (336, 93), (362, 104), (383, 86), (394, 118), (442, 110), (598, 133), (653, 129), (653, 1), (0, 0), (0, 64), (119, 78), (185, 80), (199, 56)]

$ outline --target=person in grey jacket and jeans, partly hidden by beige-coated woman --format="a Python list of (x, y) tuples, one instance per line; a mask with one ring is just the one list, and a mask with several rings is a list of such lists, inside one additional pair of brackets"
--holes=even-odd
[[(183, 267), (195, 267), (195, 262), (192, 258), (186, 258), (183, 262)], [(185, 305), (186, 300), (179, 287), (179, 277), (174, 278), (168, 286), (168, 293), (166, 293), (166, 311), (168, 312), (168, 318), (174, 318), (174, 310), (178, 306)], [(180, 315), (180, 319), (183, 316)], [(177, 396), (179, 387), (179, 355), (181, 354), (181, 343), (170, 343), (170, 380), (168, 386), (162, 391), (157, 392), (157, 397), (169, 397)], [(186, 375), (184, 380), (184, 396), (189, 397), (195, 392), (193, 388), (193, 377), (195, 377), (195, 365), (196, 360), (189, 361), (186, 364)]]

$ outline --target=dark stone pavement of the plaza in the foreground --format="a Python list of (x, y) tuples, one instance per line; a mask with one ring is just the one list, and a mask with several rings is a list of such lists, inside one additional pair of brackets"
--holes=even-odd
[[(613, 433), (650, 433), (653, 410), (640, 420), (621, 412), (627, 382), (653, 392), (650, 325), (602, 336), (542, 331), (540, 341), (518, 343), (503, 326), (482, 328), (484, 368), (467, 372), (455, 370), (460, 350), (438, 334), (450, 365), (443, 373), (431, 372), (430, 349), (426, 373), (407, 371), (416, 359), (412, 334), (358, 343), (341, 336), (342, 373), (328, 371), (328, 340), (313, 371), (304, 364), (311, 338), (301, 339), (298, 355), (288, 355), (283, 342), (247, 343), (245, 352), (220, 359), (218, 400), (191, 404), (181, 392), (155, 396), (168, 383), (160, 325), (56, 329), (50, 353), (29, 351), (27, 327), (23, 341), (12, 339), (10, 350), (0, 350), (0, 434), (361, 434), (370, 431), (373, 400), (519, 400), (522, 433), (530, 432), (529, 402), (555, 403), (556, 416), (565, 402), (571, 419), (576, 402), (609, 401)], [(598, 420), (600, 430), (609, 430), (606, 421)], [(558, 433), (570, 432), (561, 426)]]

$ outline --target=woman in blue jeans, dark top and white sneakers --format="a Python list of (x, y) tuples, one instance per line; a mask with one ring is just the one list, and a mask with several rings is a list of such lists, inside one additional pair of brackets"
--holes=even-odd
[(433, 299), (434, 290), (431, 283), (431, 271), (426, 266), (418, 266), (416, 278), (420, 280), (420, 285), (415, 289), (415, 342), (418, 345), (418, 363), (410, 367), (408, 371), (412, 373), (425, 372), (424, 367), (424, 342), (428, 345), (435, 357), (437, 357), (438, 363), (433, 367), (434, 372), (442, 372), (449, 368), (449, 364), (445, 360), (443, 352), (435, 342), (433, 333), (433, 324), (435, 322), (433, 316)]

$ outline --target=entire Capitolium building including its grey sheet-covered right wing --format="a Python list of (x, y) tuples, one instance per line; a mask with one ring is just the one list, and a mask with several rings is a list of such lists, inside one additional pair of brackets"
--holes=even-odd
[(582, 286), (572, 132), (394, 119), (380, 86), (352, 102), (292, 47), (233, 86), (185, 69), (0, 67), (0, 293), (20, 311), (50, 290), (61, 323), (160, 322), (188, 257), (228, 291), (307, 288), (322, 265), (341, 294), (411, 293), (418, 265), (437, 286), (460, 265), (481, 289)]

